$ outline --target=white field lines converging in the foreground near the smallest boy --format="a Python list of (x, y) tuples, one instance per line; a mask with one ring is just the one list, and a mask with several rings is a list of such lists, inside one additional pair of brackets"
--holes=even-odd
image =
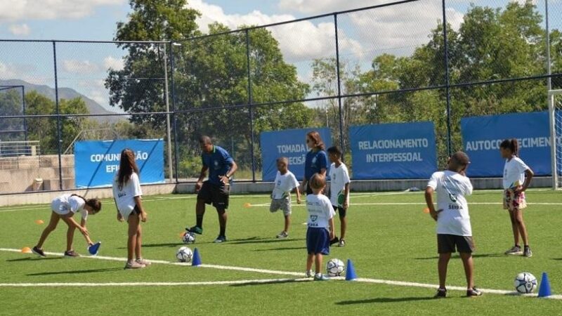
[[(20, 249), (11, 249), (11, 248), (0, 248), (0, 251), (10, 251), (10, 252), (21, 252)], [(60, 253), (53, 253), (53, 252), (46, 252), (46, 254), (49, 255), (53, 255), (53, 256), (63, 256), (63, 254)], [(91, 259), (100, 259), (100, 260), (110, 260), (110, 261), (122, 261), (125, 262), (126, 258), (117, 258), (117, 257), (106, 257), (106, 256), (84, 256), (81, 258), (91, 258)], [(151, 260), (150, 262), (152, 263), (162, 263), (162, 264), (166, 264), (166, 265), (190, 265), (190, 263), (178, 263), (178, 262), (169, 262), (169, 261), (161, 261), (161, 260)], [(290, 271), (277, 271), (277, 270), (266, 270), (266, 269), (256, 269), (256, 268), (244, 268), (244, 267), (234, 267), (234, 266), (228, 266), (228, 265), (207, 265), (207, 264), (202, 264), (200, 265), (200, 267), (202, 268), (213, 268), (213, 269), (220, 269), (220, 270), (236, 270), (236, 271), (245, 271), (245, 272), (258, 272), (258, 273), (265, 273), (268, 275), (290, 275), (290, 276), (297, 276), (297, 277), (302, 277), (303, 273), (302, 272), (290, 272)], [(334, 279), (344, 279), (343, 277), (335, 277)], [(306, 279), (263, 279), (263, 280), (242, 280), (242, 281), (237, 281), (237, 282), (242, 282), (240, 284), (244, 284), (243, 282), (247, 283), (253, 283), (253, 282), (263, 282), (263, 283), (268, 283), (268, 282), (290, 282), (291, 281), (306, 281)], [(367, 278), (358, 278), (355, 279), (356, 282), (366, 282), (366, 283), (377, 283), (377, 284), (388, 284), (388, 285), (394, 285), (394, 286), (400, 286), (400, 287), (422, 287), (422, 288), (426, 288), (426, 289), (436, 289), (436, 285), (435, 284), (425, 284), (425, 283), (417, 283), (417, 282), (403, 282), (403, 281), (393, 281), (393, 280), (386, 280), (386, 279), (367, 279)], [(178, 284), (174, 284), (173, 282), (141, 282), (147, 285), (190, 285), (192, 283), (196, 283), (196, 284), (201, 284), (201, 285), (213, 285), (213, 284), (235, 284), (235, 283), (227, 283), (227, 282), (236, 282), (236, 281), (218, 281), (221, 283), (217, 283), (217, 282), (178, 282)], [(0, 287), (18, 287), (18, 285), (12, 285), (12, 284), (39, 284), (39, 285), (25, 285), (25, 287), (32, 287), (32, 286), (37, 286), (37, 287), (56, 287), (57, 285), (41, 285), (41, 284), (65, 284), (65, 283), (0, 283)], [(70, 283), (72, 284), (72, 283)], [(76, 284), (76, 283), (74, 283)], [(109, 284), (117, 284), (115, 286), (120, 286), (118, 284), (120, 283), (85, 283), (85, 284), (108, 284), (108, 285), (90, 285), (90, 286), (111, 286)], [(124, 284), (134, 284), (134, 283), (124, 283)], [(196, 285), (194, 284), (194, 285)], [(64, 286), (71, 286), (71, 285), (60, 285), (62, 287)], [(77, 285), (78, 286), (78, 285)], [(88, 286), (88, 285), (86, 285)], [(123, 285), (125, 286), (125, 285)], [(22, 285), (22, 287), (24, 287), (24, 285)], [(450, 286), (447, 287), (447, 289), (451, 289), (454, 291), (466, 291), (466, 287), (454, 287), (454, 286)], [(484, 293), (489, 293), (489, 294), (500, 294), (500, 295), (516, 295), (517, 293), (515, 291), (507, 291), (507, 290), (499, 290), (499, 289), (481, 289), (481, 291), (483, 291)], [(536, 294), (529, 294), (526, 296), (537, 296)], [(552, 299), (557, 299), (557, 300), (562, 300), (562, 295), (552, 295), (549, 296), (548, 298), (552, 298)]]

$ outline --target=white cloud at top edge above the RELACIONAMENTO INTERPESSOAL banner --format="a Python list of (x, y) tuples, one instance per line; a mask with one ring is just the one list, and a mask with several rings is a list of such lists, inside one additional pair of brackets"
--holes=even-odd
[[(278, 7), (284, 11), (319, 14), (344, 11), (378, 4), (391, 0), (280, 0)], [(458, 29), (463, 13), (446, 8), (447, 22)], [(360, 41), (365, 58), (371, 59), (380, 53), (408, 55), (413, 49), (429, 41), (431, 29), (443, 20), (441, 1), (416, 1), (396, 6), (386, 6), (365, 11), (339, 15), (339, 27), (353, 34)], [(352, 39), (352, 40), (353, 40)], [(355, 58), (360, 58), (356, 55)]]

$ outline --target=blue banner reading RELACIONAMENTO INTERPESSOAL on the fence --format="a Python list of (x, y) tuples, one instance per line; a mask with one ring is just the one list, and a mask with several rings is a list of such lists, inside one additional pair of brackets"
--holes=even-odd
[(433, 122), (351, 126), (354, 179), (429, 178), (437, 170)]

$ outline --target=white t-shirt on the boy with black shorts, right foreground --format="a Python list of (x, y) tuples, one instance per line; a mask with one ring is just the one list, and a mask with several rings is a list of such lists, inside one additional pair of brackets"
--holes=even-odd
[(469, 178), (453, 171), (438, 171), (431, 175), (428, 187), (437, 192), (437, 233), (472, 236), (466, 195), (472, 194)]

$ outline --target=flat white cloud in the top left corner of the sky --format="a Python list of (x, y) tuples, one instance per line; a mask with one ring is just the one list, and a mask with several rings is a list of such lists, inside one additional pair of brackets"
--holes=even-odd
[(78, 19), (126, 0), (0, 0), (0, 21)]

